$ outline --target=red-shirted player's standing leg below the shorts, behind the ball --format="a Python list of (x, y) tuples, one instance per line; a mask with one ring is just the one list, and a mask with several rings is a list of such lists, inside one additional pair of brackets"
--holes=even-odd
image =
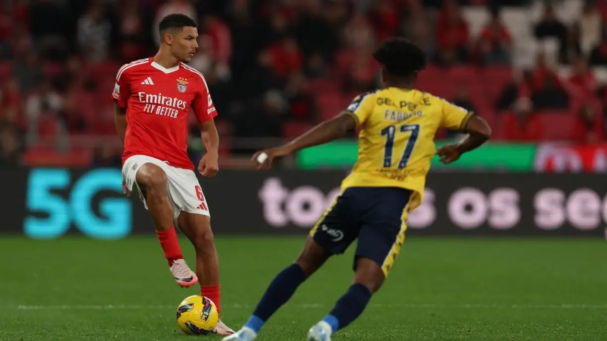
[[(182, 211), (177, 224), (188, 236), (196, 251), (196, 274), (200, 279), (200, 295), (211, 299), (217, 306), (217, 311), (221, 313), (219, 257), (211, 230), (211, 217)], [(214, 333), (231, 335), (234, 334), (234, 330), (219, 320)]]

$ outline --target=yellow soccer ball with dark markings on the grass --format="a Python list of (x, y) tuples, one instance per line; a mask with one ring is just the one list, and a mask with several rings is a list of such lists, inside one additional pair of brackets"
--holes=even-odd
[(177, 307), (177, 324), (186, 334), (206, 335), (219, 322), (217, 306), (203, 296), (190, 296)]

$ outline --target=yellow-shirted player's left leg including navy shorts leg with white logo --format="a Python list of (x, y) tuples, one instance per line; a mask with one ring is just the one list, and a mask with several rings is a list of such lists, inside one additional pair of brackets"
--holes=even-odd
[(287, 303), (297, 288), (333, 254), (343, 253), (358, 235), (355, 219), (348, 216), (347, 202), (338, 197), (310, 231), (299, 257), (270, 283), (253, 315), (229, 340), (253, 340), (280, 306)]

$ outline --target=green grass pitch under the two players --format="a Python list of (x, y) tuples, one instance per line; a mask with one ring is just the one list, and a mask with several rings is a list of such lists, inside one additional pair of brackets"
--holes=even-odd
[[(217, 240), (228, 325), (245, 322), (302, 241)], [(0, 340), (197, 338), (178, 329), (175, 308), (198, 289), (178, 288), (155, 239), (4, 238), (0, 255)], [(334, 340), (607, 340), (606, 260), (603, 240), (411, 237), (364, 315)], [(351, 276), (351, 251), (330, 260), (259, 340), (305, 340)]]

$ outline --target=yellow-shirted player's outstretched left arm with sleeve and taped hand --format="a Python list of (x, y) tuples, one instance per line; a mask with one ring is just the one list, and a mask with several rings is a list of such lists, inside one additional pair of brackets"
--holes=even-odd
[(343, 137), (348, 131), (354, 131), (358, 125), (363, 124), (371, 111), (375, 101), (373, 94), (362, 94), (354, 99), (347, 110), (342, 111), (334, 118), (321, 122), (293, 141), (280, 147), (260, 150), (253, 155), (252, 161), (257, 162), (257, 168), (270, 168), (275, 157), (287, 156), (298, 150), (325, 144)]

